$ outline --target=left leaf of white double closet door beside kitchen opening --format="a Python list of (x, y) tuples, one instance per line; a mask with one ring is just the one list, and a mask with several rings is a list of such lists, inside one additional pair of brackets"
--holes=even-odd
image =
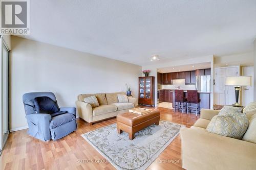
[(226, 68), (215, 69), (215, 104), (225, 105), (226, 95)]

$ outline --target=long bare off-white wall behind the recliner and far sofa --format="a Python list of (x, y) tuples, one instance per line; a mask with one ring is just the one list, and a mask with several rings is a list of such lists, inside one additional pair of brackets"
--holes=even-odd
[(80, 93), (125, 91), (125, 83), (138, 96), (141, 66), (15, 36), (11, 46), (12, 130), (27, 126), (26, 92), (52, 91), (60, 107), (75, 106)]

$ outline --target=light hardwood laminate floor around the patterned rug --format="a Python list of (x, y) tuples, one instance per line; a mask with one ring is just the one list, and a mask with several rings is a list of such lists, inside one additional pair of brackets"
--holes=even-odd
[[(161, 108), (160, 119), (168, 120), (187, 127), (192, 126), (200, 115), (174, 113), (172, 109)], [(27, 130), (10, 133), (7, 144), (0, 156), (0, 169), (115, 169), (80, 135), (110, 124), (116, 118), (88, 126), (78, 119), (77, 131), (57, 141), (42, 142), (28, 136)], [(102, 163), (80, 163), (79, 160), (103, 160)], [(178, 163), (159, 163), (177, 160)], [(168, 145), (159, 157), (147, 168), (182, 169), (180, 135)]]

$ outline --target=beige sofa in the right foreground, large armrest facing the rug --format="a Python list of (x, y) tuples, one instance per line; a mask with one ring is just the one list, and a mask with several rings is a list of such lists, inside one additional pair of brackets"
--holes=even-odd
[(181, 129), (182, 167), (193, 169), (256, 169), (256, 143), (206, 132), (217, 110), (201, 110), (190, 128)]

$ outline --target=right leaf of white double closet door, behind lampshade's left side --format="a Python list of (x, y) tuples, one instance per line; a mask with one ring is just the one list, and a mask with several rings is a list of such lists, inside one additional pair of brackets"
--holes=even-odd
[[(232, 77), (232, 76), (238, 76), (237, 67), (226, 68), (226, 77)], [(234, 87), (226, 86), (226, 105), (232, 105), (234, 103), (236, 103), (236, 93), (234, 91)]]

